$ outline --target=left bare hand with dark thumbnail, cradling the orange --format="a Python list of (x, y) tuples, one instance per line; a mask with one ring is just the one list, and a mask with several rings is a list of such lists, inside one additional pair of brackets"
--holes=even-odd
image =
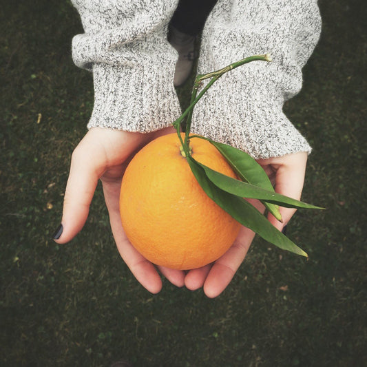
[[(98, 179), (101, 179), (118, 251), (136, 279), (151, 293), (158, 293), (162, 282), (156, 267), (134, 249), (123, 231), (118, 204), (120, 185), (127, 163), (134, 153), (154, 138), (174, 131), (171, 127), (149, 134), (98, 127), (90, 129), (72, 154), (61, 220), (63, 232), (56, 240), (61, 244), (69, 242), (81, 231), (87, 220)], [(184, 285), (183, 271), (162, 266), (158, 269), (171, 283)]]

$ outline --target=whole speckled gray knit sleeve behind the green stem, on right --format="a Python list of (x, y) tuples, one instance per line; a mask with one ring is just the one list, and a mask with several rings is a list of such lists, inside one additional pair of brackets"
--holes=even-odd
[(205, 74), (253, 54), (224, 74), (198, 103), (192, 130), (247, 151), (254, 158), (311, 151), (282, 112), (302, 87), (302, 67), (319, 39), (316, 0), (219, 0), (202, 35), (198, 72)]

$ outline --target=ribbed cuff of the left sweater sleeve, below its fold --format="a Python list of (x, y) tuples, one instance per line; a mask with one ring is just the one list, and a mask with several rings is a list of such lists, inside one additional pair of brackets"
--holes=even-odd
[(155, 65), (94, 63), (94, 108), (87, 125), (127, 132), (152, 132), (180, 116), (174, 66), (163, 73)]

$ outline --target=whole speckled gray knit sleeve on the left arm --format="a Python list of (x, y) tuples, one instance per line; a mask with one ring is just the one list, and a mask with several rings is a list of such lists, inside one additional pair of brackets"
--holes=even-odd
[(74, 36), (74, 63), (93, 72), (90, 127), (151, 132), (180, 116), (176, 51), (167, 41), (178, 0), (73, 0), (85, 33)]

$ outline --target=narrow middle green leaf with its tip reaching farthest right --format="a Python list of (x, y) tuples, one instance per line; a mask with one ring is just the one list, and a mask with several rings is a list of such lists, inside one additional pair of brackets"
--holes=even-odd
[(306, 202), (281, 195), (280, 193), (275, 193), (274, 191), (265, 190), (261, 187), (236, 180), (235, 178), (231, 178), (221, 174), (220, 172), (214, 171), (206, 165), (202, 165), (202, 163), (197, 160), (195, 160), (195, 162), (204, 169), (205, 174), (214, 185), (228, 193), (232, 193), (235, 196), (240, 196), (240, 198), (258, 199), (287, 208), (322, 209), (320, 207), (315, 207), (315, 205), (307, 204)]

